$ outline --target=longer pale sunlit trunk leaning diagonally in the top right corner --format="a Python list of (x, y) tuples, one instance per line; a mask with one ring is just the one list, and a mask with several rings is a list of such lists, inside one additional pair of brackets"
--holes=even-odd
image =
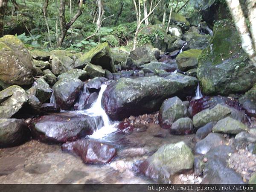
[(245, 23), (244, 13), (241, 9), (239, 0), (226, 0), (227, 6), (230, 9), (233, 21), (236, 25), (236, 29), (239, 32), (242, 48), (247, 53), (253, 64), (256, 65), (256, 52), (253, 47), (253, 41), (250, 37), (250, 32)]

